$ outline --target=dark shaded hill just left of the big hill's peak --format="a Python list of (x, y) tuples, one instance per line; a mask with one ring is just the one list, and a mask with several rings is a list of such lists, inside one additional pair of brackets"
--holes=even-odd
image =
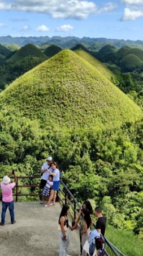
[(17, 51), (14, 55), (12, 55), (10, 59), (7, 60), (7, 63), (14, 63), (15, 61), (22, 60), (28, 56), (38, 57), (44, 60), (47, 59), (46, 55), (42, 53), (40, 49), (38, 49), (36, 46), (33, 46), (33, 44), (27, 44), (26, 46), (21, 47), (19, 51)]

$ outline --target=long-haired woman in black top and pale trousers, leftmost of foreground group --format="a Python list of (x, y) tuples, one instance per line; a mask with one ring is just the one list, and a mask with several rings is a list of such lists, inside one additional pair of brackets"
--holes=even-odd
[(70, 207), (64, 205), (62, 212), (59, 216), (59, 237), (61, 238), (59, 256), (70, 256), (68, 255), (68, 246), (70, 244), (69, 240), (69, 224), (68, 224), (68, 214), (70, 214)]

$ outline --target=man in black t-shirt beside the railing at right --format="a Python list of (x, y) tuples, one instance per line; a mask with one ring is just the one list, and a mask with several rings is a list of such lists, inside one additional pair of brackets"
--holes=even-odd
[(96, 229), (99, 234), (105, 236), (105, 229), (106, 229), (106, 217), (102, 215), (102, 209), (100, 207), (96, 207), (94, 214), (98, 218), (96, 222)]

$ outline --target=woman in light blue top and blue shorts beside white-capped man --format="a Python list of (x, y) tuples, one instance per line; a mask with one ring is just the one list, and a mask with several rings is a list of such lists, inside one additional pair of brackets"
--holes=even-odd
[[(47, 204), (45, 207), (50, 207), (52, 205), (55, 205), (55, 200), (57, 196), (57, 191), (59, 191), (60, 186), (60, 171), (57, 167), (57, 163), (53, 162), (51, 164), (52, 171), (49, 171), (49, 174), (53, 176), (53, 187), (51, 189), (50, 198), (47, 201)], [(51, 201), (53, 200), (53, 203)]]

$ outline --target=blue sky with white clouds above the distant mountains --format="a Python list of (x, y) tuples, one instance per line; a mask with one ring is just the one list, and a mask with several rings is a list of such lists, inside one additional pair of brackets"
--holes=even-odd
[(143, 0), (0, 0), (0, 36), (143, 40)]

